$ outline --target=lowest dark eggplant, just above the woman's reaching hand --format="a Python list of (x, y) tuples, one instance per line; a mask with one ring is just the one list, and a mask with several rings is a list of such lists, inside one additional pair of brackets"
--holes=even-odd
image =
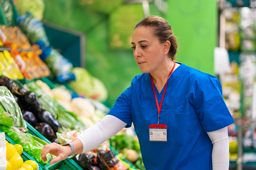
[(44, 123), (44, 122), (38, 123), (35, 126), (35, 129), (37, 129), (44, 137), (49, 139), (51, 142), (58, 143), (56, 135), (55, 135), (53, 129), (51, 128), (51, 126), (49, 124)]

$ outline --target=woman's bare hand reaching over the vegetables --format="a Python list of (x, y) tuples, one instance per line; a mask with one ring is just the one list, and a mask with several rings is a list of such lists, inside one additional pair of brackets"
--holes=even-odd
[(43, 161), (46, 161), (46, 154), (50, 153), (57, 157), (52, 159), (50, 161), (50, 164), (57, 163), (60, 160), (64, 160), (71, 154), (71, 147), (70, 145), (61, 146), (60, 144), (57, 144), (55, 142), (46, 144), (42, 151), (41, 151), (41, 157)]

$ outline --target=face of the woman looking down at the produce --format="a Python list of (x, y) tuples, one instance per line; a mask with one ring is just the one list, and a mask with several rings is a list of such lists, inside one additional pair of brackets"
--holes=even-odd
[(153, 35), (149, 27), (137, 27), (132, 34), (133, 55), (142, 73), (153, 73), (160, 68), (167, 55), (164, 44)]

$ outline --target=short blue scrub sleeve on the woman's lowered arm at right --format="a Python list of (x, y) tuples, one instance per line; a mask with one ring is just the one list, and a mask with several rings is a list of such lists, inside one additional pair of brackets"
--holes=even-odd
[(216, 77), (206, 76), (200, 83), (195, 108), (206, 132), (234, 123), (223, 100), (221, 84)]

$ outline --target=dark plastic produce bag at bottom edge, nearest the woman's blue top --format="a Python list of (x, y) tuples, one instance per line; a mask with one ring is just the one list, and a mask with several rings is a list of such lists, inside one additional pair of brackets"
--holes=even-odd
[(98, 164), (103, 170), (126, 170), (128, 169), (121, 161), (119, 161), (112, 150), (98, 152)]

